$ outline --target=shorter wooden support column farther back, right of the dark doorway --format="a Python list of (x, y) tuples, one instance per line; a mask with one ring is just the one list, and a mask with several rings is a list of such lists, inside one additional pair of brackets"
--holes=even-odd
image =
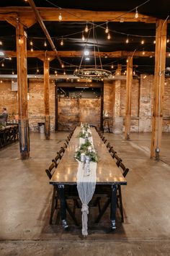
[(130, 115), (131, 115), (131, 93), (133, 82), (133, 57), (127, 59), (126, 80), (126, 111), (125, 111), (125, 140), (130, 139)]

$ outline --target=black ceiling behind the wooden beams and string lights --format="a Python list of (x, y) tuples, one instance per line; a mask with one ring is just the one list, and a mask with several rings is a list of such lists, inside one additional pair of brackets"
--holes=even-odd
[[(133, 1), (113, 1), (113, 0), (96, 0), (96, 1), (54, 1), (54, 0), (35, 0), (37, 7), (60, 7), (61, 10), (66, 9), (86, 9), (93, 11), (122, 11), (129, 12), (135, 7), (138, 7), (140, 14), (147, 14), (152, 17), (166, 19), (169, 15), (170, 0), (155, 1), (151, 0), (143, 4), (145, 1), (133, 0)], [(142, 5), (143, 4), (143, 5)], [(15, 0), (15, 1), (0, 1), (0, 8), (3, 7), (28, 7), (30, 6), (27, 1)], [(108, 17), (109, 20), (109, 17)], [(92, 26), (92, 21), (87, 23), (88, 27)], [(108, 22), (109, 32), (111, 39), (107, 39), (107, 35), (104, 29), (107, 25), (106, 22), (95, 22), (95, 46), (99, 47), (99, 51), (155, 51), (156, 25), (143, 22)], [(89, 39), (82, 41), (82, 31), (86, 26), (86, 22), (45, 22), (45, 26), (53, 38), (53, 42), (58, 51), (82, 51), (85, 46), (89, 50), (94, 50), (94, 40), (91, 33), (84, 33), (85, 38), (89, 35)], [(12, 50), (16, 51), (15, 42), (15, 28), (7, 22), (0, 21), (0, 40), (3, 45), (0, 46), (0, 50)], [(167, 38), (170, 39), (170, 24), (168, 25)], [(30, 41), (33, 42), (33, 49), (36, 50), (49, 50), (50, 45), (44, 46), (45, 35), (38, 23), (27, 29), (27, 49), (30, 50)], [(61, 46), (61, 39), (63, 38), (63, 46)], [(129, 39), (129, 43), (125, 43), (126, 39)], [(141, 40), (145, 43), (141, 44)], [(47, 42), (48, 43), (48, 42)], [(166, 51), (170, 52), (170, 43), (167, 43)], [(65, 64), (66, 73), (73, 73), (76, 67), (79, 67), (81, 58), (61, 58)], [(91, 58), (93, 59), (93, 58)], [(0, 74), (12, 74), (12, 71), (17, 72), (16, 59), (0, 59)], [(4, 67), (1, 67), (2, 62)], [(37, 68), (40, 69), (40, 73), (43, 72), (42, 61), (36, 58), (28, 58), (28, 73), (35, 74)], [(88, 66), (92, 64), (91, 61), (83, 61), (82, 64)], [(122, 64), (122, 68), (125, 69), (126, 58), (102, 58), (102, 64), (105, 69), (109, 69), (112, 72), (116, 69), (117, 64)], [(114, 68), (112, 68), (114, 65)], [(134, 69), (137, 73), (153, 73), (154, 71), (154, 58), (140, 57), (133, 60)], [(166, 58), (166, 67), (170, 67), (170, 58)], [(58, 64), (58, 60), (55, 59), (50, 63), (50, 73), (53, 74), (55, 70), (58, 73), (62, 73)]]

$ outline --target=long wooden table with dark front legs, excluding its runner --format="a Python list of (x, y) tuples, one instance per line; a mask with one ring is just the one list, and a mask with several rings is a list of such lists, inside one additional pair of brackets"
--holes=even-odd
[[(80, 127), (76, 127), (73, 136), (68, 144), (68, 148), (61, 158), (58, 167), (55, 170), (50, 184), (57, 185), (61, 197), (61, 220), (66, 223), (66, 205), (64, 204), (64, 185), (75, 185), (76, 174), (78, 171), (78, 162), (74, 155), (76, 148), (79, 145)], [(117, 167), (112, 156), (109, 154), (106, 145), (102, 142), (96, 129), (91, 128), (93, 137), (94, 149), (97, 152), (99, 161), (97, 163), (97, 185), (111, 185), (111, 207), (110, 207), (110, 221), (111, 228), (116, 228), (116, 207), (117, 207), (117, 184), (126, 185), (127, 182), (122, 176), (120, 169)]]

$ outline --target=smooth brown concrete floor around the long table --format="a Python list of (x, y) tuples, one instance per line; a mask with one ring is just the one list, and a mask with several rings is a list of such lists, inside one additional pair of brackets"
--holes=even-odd
[(125, 223), (117, 214), (112, 233), (109, 211), (94, 224), (91, 209), (86, 239), (69, 216), (69, 231), (48, 224), (52, 186), (45, 168), (66, 135), (53, 133), (47, 141), (42, 134), (31, 134), (27, 161), (19, 160), (18, 143), (0, 150), (0, 255), (169, 255), (170, 134), (163, 135), (159, 162), (150, 160), (151, 134), (133, 133), (130, 141), (105, 134), (130, 168), (128, 186), (122, 186)]

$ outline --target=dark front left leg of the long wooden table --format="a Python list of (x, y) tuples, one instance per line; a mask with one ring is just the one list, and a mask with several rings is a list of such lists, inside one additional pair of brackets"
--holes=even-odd
[(68, 223), (66, 221), (66, 199), (64, 195), (64, 185), (58, 185), (60, 201), (61, 201), (61, 222), (64, 229), (68, 229)]

